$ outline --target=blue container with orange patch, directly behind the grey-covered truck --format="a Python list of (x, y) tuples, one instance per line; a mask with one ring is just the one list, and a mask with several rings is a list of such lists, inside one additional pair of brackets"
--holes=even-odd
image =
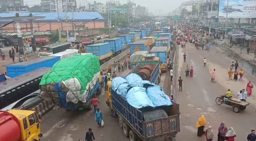
[(149, 41), (148, 40), (140, 40), (140, 41), (131, 43), (130, 55), (132, 55), (136, 51), (150, 51)]

